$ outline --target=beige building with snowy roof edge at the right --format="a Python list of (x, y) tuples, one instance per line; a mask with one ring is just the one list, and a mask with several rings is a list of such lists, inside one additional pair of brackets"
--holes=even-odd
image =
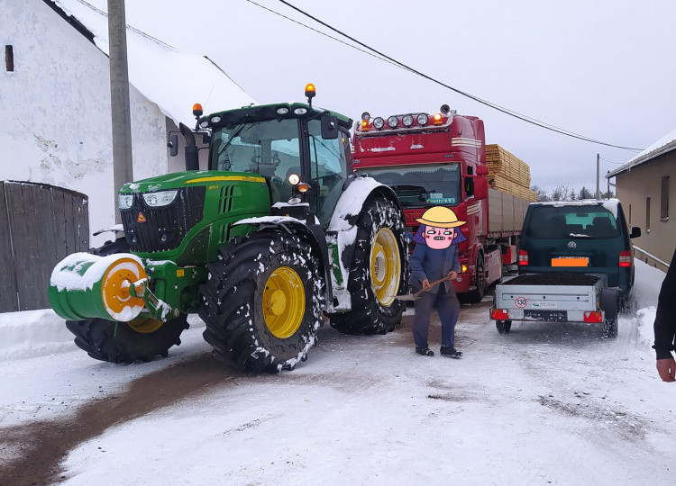
[(676, 130), (646, 148), (624, 166), (607, 173), (615, 177), (616, 193), (630, 226), (642, 230), (634, 240), (635, 256), (666, 270), (676, 246)]

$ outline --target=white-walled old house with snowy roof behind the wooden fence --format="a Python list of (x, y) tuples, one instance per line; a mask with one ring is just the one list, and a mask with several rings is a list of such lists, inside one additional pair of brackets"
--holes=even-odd
[[(114, 224), (107, 22), (85, 0), (0, 0), (0, 180), (87, 194), (91, 231)], [(194, 103), (254, 103), (210, 59), (130, 26), (127, 50), (136, 180), (183, 167), (167, 140), (179, 121), (194, 126)]]

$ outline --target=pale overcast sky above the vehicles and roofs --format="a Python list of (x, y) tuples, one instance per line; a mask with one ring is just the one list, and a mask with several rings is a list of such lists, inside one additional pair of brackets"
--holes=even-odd
[[(676, 128), (671, 0), (289, 3), (444, 84), (591, 139), (646, 148)], [(209, 56), (260, 103), (300, 101), (312, 82), (315, 104), (355, 120), (443, 103), (480, 116), (487, 142), (522, 158), (532, 184), (550, 191), (595, 187), (597, 154), (602, 175), (636, 154), (518, 121), (257, 4), (339, 37), (279, 0), (203, 0), (191, 9), (126, 0), (126, 14), (133, 27)], [(209, 105), (208, 94), (195, 101), (206, 112), (224, 108)]]

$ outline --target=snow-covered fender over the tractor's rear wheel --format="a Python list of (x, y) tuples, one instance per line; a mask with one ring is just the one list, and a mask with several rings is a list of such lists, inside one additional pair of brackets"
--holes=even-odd
[(359, 220), (364, 202), (370, 199), (383, 198), (393, 202), (401, 212), (404, 220), (404, 211), (401, 209), (397, 194), (385, 184), (380, 184), (372, 177), (351, 177), (346, 181), (343, 194), (333, 210), (333, 216), (326, 231), (327, 238), (338, 247), (338, 264), (342, 281), (338, 281), (334, 272), (331, 272), (333, 296), (336, 310), (352, 309), (352, 297), (347, 290), (347, 280), (352, 267), (354, 244), (357, 238), (357, 221)]

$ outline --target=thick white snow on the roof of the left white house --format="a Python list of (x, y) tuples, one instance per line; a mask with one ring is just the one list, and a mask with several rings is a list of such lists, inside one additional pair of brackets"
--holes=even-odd
[[(108, 15), (85, 0), (48, 0), (75, 17), (94, 34), (98, 49), (108, 55)], [(177, 125), (192, 126), (192, 107), (205, 113), (239, 108), (256, 101), (206, 56), (180, 52), (169, 44), (127, 25), (129, 82)]]

